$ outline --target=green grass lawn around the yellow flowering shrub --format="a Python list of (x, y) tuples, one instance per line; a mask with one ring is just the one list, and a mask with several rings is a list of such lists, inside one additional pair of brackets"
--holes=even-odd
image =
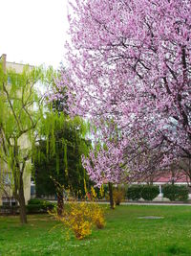
[[(161, 216), (161, 220), (142, 220)], [(107, 211), (107, 225), (90, 237), (66, 239), (48, 215), (32, 215), (21, 226), (18, 217), (0, 217), (0, 255), (191, 256), (191, 207), (126, 205)], [(54, 227), (54, 228), (53, 228)]]

